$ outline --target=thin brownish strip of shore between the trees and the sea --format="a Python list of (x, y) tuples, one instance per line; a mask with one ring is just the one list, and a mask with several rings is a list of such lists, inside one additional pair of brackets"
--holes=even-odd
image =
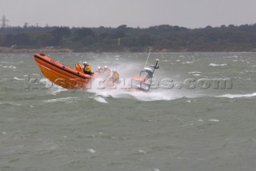
[[(7, 48), (7, 47), (0, 47), (0, 54), (60, 54), (60, 53), (95, 53), (95, 54), (101, 54), (101, 53), (149, 53), (148, 51), (142, 51), (142, 52), (129, 52), (129, 51), (113, 51), (113, 52), (74, 52), (74, 50), (70, 50), (68, 48), (56, 48), (56, 49), (49, 49), (49, 48), (38, 48), (38, 49), (13, 49), (13, 48)], [(186, 51), (168, 51), (168, 50), (162, 50), (162, 51), (151, 51), (152, 54), (256, 54), (255, 51), (198, 51), (198, 52), (186, 52)]]

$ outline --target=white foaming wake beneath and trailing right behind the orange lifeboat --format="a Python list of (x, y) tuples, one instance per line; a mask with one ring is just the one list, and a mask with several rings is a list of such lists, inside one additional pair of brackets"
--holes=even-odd
[[(245, 93), (245, 94), (236, 94), (236, 93), (222, 93), (222, 94), (214, 94), (214, 93), (203, 93), (198, 91), (186, 91), (186, 89), (151, 89), (150, 91), (134, 91), (128, 89), (98, 89), (96, 87), (92, 87), (90, 89), (77, 89), (77, 90), (70, 90), (64, 89), (58, 85), (52, 85), (50, 81), (46, 78), (42, 78), (40, 80), (42, 84), (46, 87), (50, 87), (47, 89), (48, 94), (52, 94), (54, 96), (70, 91), (72, 93), (76, 92), (77, 95), (81, 97), (81, 94), (86, 94), (85, 98), (93, 99), (94, 101), (98, 101), (100, 103), (108, 103), (110, 98), (114, 99), (134, 99), (137, 101), (172, 101), (185, 98), (196, 98), (196, 97), (226, 97), (226, 98), (250, 98), (256, 97), (256, 93)], [(74, 93), (73, 95), (75, 95)], [(53, 101), (62, 101), (64, 98), (56, 98), (54, 100), (50, 100), (47, 102)], [(64, 99), (64, 101), (67, 101)]]

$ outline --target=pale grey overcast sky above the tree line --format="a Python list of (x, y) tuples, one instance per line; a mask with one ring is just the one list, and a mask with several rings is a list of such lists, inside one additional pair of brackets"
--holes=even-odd
[(256, 0), (0, 0), (9, 26), (199, 28), (256, 23)]

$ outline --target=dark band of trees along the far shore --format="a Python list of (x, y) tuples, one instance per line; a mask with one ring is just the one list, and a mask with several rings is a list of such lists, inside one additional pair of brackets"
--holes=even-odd
[(67, 48), (74, 52), (232, 52), (256, 51), (256, 24), (132, 28), (126, 25), (98, 28), (5, 27), (0, 28), (0, 46), (13, 48)]

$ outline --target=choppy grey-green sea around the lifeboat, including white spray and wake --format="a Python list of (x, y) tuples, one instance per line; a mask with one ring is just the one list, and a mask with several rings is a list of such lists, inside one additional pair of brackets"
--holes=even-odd
[[(159, 87), (146, 93), (62, 89), (33, 55), (0, 54), (1, 171), (256, 168), (256, 54), (150, 54)], [(148, 56), (46, 55), (124, 79)]]

